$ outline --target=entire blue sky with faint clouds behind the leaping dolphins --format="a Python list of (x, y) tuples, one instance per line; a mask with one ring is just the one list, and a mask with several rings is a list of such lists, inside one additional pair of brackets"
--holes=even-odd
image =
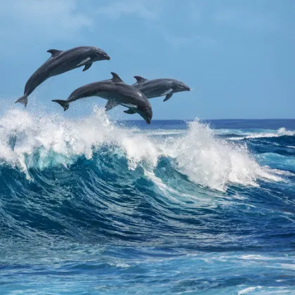
[[(153, 119), (294, 118), (294, 11), (293, 0), (0, 0), (2, 111), (22, 107), (14, 101), (48, 49), (85, 45), (112, 60), (49, 79), (28, 110), (34, 103), (62, 112), (51, 99), (117, 72), (129, 84), (141, 75), (194, 89), (165, 103), (152, 98)], [(80, 100), (65, 116), (105, 102)], [(110, 114), (131, 118), (122, 110)]]

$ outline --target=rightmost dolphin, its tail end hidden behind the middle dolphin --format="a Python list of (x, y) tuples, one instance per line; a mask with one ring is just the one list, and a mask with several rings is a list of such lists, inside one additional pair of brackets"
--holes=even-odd
[(147, 80), (141, 76), (134, 76), (136, 84), (132, 86), (141, 91), (147, 98), (166, 96), (163, 101), (169, 100), (173, 93), (190, 91), (190, 87), (175, 79)]

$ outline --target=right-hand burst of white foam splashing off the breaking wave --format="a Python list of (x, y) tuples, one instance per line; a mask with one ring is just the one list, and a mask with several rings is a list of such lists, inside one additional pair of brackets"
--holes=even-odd
[(218, 190), (225, 190), (228, 183), (256, 185), (257, 178), (280, 180), (259, 166), (247, 147), (218, 140), (209, 126), (197, 121), (190, 122), (188, 133), (165, 150), (192, 181)]

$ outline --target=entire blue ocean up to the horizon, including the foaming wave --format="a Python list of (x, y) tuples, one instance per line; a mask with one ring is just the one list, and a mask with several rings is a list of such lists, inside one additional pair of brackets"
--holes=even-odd
[(0, 294), (295, 294), (295, 120), (0, 117)]

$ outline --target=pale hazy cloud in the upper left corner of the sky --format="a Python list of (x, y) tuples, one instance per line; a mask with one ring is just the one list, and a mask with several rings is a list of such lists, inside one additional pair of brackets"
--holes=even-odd
[(71, 39), (92, 20), (77, 11), (76, 0), (0, 1), (1, 36)]

